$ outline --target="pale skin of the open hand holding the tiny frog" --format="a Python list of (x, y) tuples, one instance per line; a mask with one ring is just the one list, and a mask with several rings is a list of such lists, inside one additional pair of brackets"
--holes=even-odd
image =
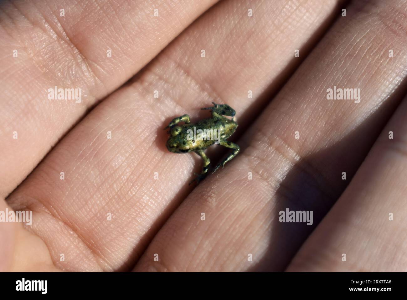
[[(215, 2), (0, 4), (0, 210), (33, 211), (0, 223), (1, 271), (407, 269), (403, 1)], [(55, 85), (82, 102), (48, 100)], [(188, 186), (201, 158), (162, 128), (212, 101), (241, 151)], [(278, 222), (287, 207), (313, 226)]]

